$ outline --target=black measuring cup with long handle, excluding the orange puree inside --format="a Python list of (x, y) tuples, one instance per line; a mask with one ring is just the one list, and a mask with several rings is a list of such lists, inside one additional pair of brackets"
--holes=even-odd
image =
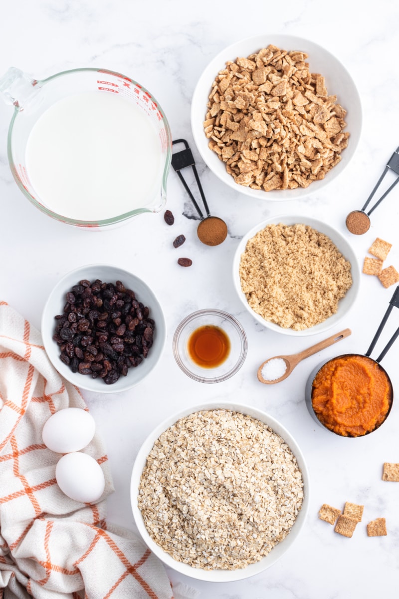
[[(388, 352), (388, 350), (392, 347), (392, 345), (394, 344), (395, 340), (397, 339), (397, 337), (399, 337), (399, 327), (397, 328), (397, 330), (394, 332), (394, 334), (392, 335), (392, 337), (389, 339), (388, 343), (386, 344), (386, 346), (383, 348), (382, 352), (380, 353), (380, 355), (378, 356), (378, 358), (376, 358), (375, 360), (373, 358), (370, 358), (370, 354), (374, 349), (374, 346), (376, 345), (379, 336), (386, 324), (386, 321), (388, 320), (389, 314), (391, 314), (392, 308), (399, 308), (399, 286), (395, 289), (394, 295), (392, 295), (391, 301), (389, 301), (389, 305), (388, 308), (380, 322), (380, 325), (376, 331), (376, 334), (373, 337), (373, 340), (371, 341), (370, 347), (368, 347), (368, 350), (365, 354), (360, 354), (360, 353), (345, 353), (342, 354), (340, 356), (336, 356), (335, 358), (331, 358), (330, 360), (327, 360), (327, 362), (324, 362), (321, 365), (318, 365), (318, 367), (316, 367), (312, 373), (309, 376), (309, 379), (307, 380), (306, 383), (306, 389), (305, 389), (305, 401), (306, 401), (306, 407), (309, 410), (310, 416), (312, 416), (313, 420), (315, 420), (320, 426), (322, 426), (325, 430), (332, 432), (333, 434), (342, 437), (344, 435), (339, 434), (338, 432), (335, 432), (333, 430), (331, 430), (330, 428), (328, 428), (328, 426), (325, 426), (321, 420), (319, 420), (315, 410), (313, 409), (313, 404), (312, 404), (312, 392), (313, 392), (313, 383), (315, 381), (316, 376), (318, 375), (319, 371), (327, 364), (330, 364), (330, 362), (334, 362), (335, 360), (339, 359), (339, 358), (349, 358), (351, 356), (354, 357), (366, 357), (368, 358), (371, 362), (373, 362), (377, 368), (379, 368), (379, 370), (382, 371), (382, 373), (385, 375), (386, 377), (386, 382), (388, 383), (388, 387), (389, 387), (389, 408), (388, 408), (388, 412), (386, 412), (386, 415), (384, 417), (384, 419), (382, 420), (382, 422), (379, 423), (379, 425), (377, 425), (375, 428), (373, 428), (371, 431), (366, 432), (365, 434), (370, 434), (370, 432), (374, 432), (377, 428), (379, 428), (379, 426), (381, 426), (385, 420), (388, 418), (389, 413), (391, 412), (392, 409), (392, 404), (394, 401), (394, 389), (392, 387), (392, 382), (391, 379), (388, 375), (388, 373), (386, 372), (385, 368), (383, 368), (380, 365), (380, 361), (383, 359), (383, 357), (386, 355), (386, 353)], [(349, 437), (352, 438), (357, 438), (358, 436), (364, 437), (364, 435), (348, 435)]]

